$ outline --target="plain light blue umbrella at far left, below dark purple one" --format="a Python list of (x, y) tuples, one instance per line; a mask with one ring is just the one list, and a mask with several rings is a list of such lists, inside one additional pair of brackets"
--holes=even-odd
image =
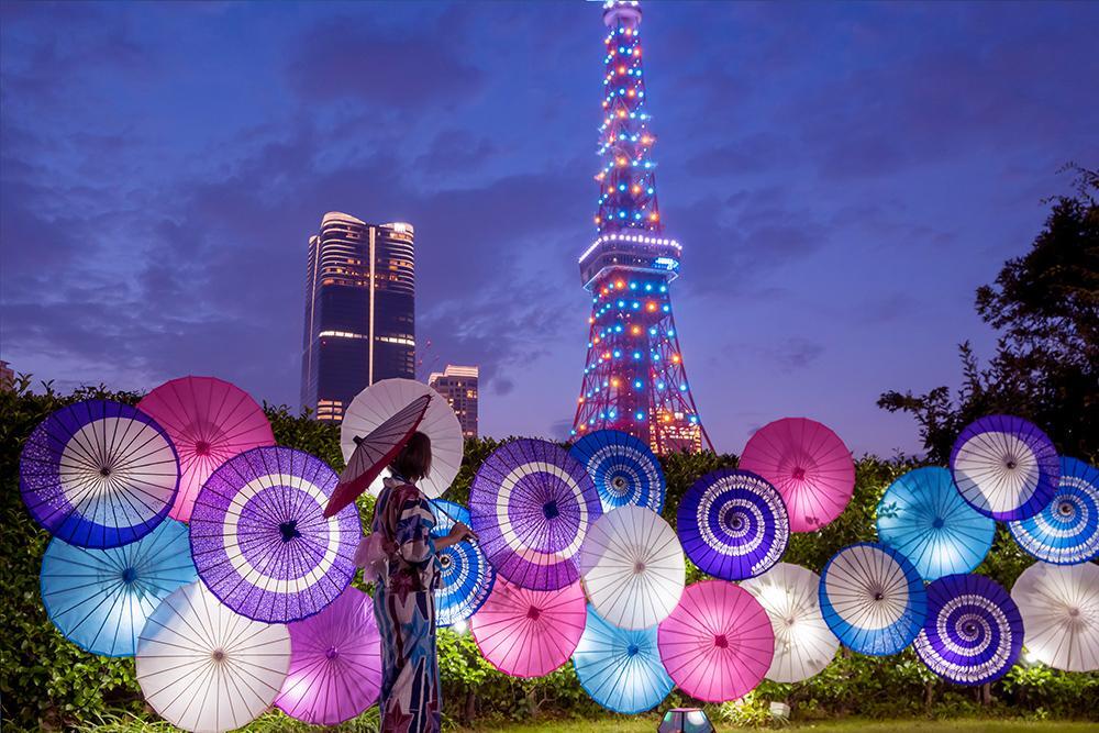
[(42, 558), (42, 602), (54, 625), (80, 648), (133, 656), (160, 600), (197, 577), (187, 526), (175, 520), (110, 549), (54, 537)]

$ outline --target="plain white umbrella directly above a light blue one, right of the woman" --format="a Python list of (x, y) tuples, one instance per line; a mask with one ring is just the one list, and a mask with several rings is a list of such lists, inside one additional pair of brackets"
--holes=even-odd
[(596, 611), (615, 626), (640, 630), (655, 626), (676, 608), (687, 564), (675, 531), (659, 514), (622, 507), (591, 525), (580, 569)]

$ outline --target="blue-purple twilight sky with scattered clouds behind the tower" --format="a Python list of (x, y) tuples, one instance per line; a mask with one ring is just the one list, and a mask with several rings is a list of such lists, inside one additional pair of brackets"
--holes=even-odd
[[(481, 432), (563, 435), (584, 366), (598, 5), (2, 4), (0, 356), (297, 406), (325, 211), (417, 227), (421, 346)], [(917, 451), (887, 389), (987, 356), (973, 291), (1099, 160), (1091, 3), (650, 2), (685, 363), (721, 451), (807, 415)]]

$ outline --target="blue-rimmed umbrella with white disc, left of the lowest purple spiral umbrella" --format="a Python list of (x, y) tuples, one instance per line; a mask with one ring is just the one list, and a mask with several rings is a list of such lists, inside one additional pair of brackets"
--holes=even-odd
[(821, 614), (840, 641), (862, 654), (897, 654), (928, 615), (928, 593), (915, 566), (887, 545), (844, 547), (824, 566)]

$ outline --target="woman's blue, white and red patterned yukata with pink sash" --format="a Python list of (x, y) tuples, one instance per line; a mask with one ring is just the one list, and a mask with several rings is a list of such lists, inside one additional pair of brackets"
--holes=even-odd
[(379, 533), (388, 571), (374, 596), (381, 632), (382, 733), (437, 733), (442, 700), (435, 648), (439, 555), (426, 497), (400, 477), (387, 478), (370, 531)]

